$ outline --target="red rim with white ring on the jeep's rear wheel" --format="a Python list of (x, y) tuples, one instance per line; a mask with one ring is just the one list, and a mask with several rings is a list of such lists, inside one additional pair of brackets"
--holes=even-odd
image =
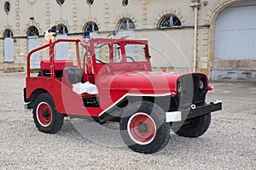
[(49, 126), (52, 120), (52, 111), (47, 103), (42, 102), (38, 105), (37, 118), (40, 125), (42, 125), (43, 127)]

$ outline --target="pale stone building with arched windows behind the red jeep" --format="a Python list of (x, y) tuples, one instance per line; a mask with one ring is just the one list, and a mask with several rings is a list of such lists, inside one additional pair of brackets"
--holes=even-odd
[[(201, 71), (213, 80), (256, 82), (256, 0), (3, 0), (0, 70), (24, 69), (26, 54), (55, 38), (148, 39), (153, 67)], [(68, 44), (56, 53), (67, 59)], [(32, 67), (47, 53), (34, 54)]]

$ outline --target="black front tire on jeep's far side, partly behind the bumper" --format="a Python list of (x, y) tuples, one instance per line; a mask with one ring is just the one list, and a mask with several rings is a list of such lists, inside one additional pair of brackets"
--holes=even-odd
[(211, 124), (211, 113), (204, 116), (195, 117), (184, 122), (183, 126), (179, 126), (178, 122), (172, 123), (172, 130), (179, 136), (188, 138), (197, 138), (207, 132)]

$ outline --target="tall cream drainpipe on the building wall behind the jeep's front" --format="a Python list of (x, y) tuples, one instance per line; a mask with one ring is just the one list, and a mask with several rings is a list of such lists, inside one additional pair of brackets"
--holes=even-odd
[(198, 24), (198, 9), (201, 6), (200, 0), (192, 0), (190, 7), (194, 8), (194, 54), (193, 54), (193, 72), (196, 71), (196, 56), (197, 56), (197, 24)]

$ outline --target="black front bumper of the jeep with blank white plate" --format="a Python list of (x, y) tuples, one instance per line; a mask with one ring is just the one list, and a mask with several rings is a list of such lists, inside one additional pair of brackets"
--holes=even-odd
[[(193, 109), (192, 109), (193, 108)], [(211, 102), (207, 105), (195, 107), (191, 105), (189, 109), (181, 109), (177, 111), (166, 112), (166, 122), (181, 122), (192, 119), (198, 116), (204, 116), (213, 111), (220, 111), (222, 109), (222, 102)]]

